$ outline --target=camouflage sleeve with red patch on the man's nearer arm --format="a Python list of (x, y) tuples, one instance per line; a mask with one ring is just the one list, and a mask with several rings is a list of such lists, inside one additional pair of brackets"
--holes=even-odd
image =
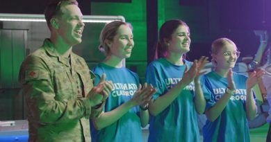
[(88, 98), (67, 100), (56, 96), (50, 73), (47, 64), (40, 57), (28, 56), (23, 62), (19, 82), (26, 97), (29, 114), (40, 123), (68, 123), (82, 117), (88, 118)]

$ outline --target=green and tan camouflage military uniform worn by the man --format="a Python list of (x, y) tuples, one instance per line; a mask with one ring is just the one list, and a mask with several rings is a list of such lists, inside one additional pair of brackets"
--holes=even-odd
[(92, 78), (85, 60), (71, 53), (58, 55), (49, 39), (28, 55), (19, 71), (19, 82), (28, 107), (28, 141), (91, 141), (88, 92)]

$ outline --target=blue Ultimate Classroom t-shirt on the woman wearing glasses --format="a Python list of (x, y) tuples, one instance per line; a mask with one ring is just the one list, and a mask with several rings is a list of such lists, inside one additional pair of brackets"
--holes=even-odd
[[(222, 78), (214, 71), (203, 76), (206, 99), (206, 109), (209, 109), (222, 97), (227, 88), (227, 78)], [(236, 90), (231, 96), (227, 106), (220, 116), (213, 122), (206, 121), (203, 127), (204, 141), (221, 141), (221, 142), (247, 142), (249, 141), (249, 126), (245, 110), (247, 77), (233, 72), (233, 80)]]

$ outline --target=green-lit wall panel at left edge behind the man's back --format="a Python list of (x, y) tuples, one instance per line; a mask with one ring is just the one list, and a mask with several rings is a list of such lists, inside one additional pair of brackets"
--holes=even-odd
[(26, 30), (0, 30), (0, 88), (19, 87), (19, 66), (24, 60)]

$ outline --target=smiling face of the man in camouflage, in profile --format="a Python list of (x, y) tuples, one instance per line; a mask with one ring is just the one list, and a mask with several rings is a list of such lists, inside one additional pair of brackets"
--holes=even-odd
[(63, 13), (58, 17), (58, 34), (66, 44), (74, 46), (82, 42), (83, 15), (76, 5), (67, 5), (61, 7)]

